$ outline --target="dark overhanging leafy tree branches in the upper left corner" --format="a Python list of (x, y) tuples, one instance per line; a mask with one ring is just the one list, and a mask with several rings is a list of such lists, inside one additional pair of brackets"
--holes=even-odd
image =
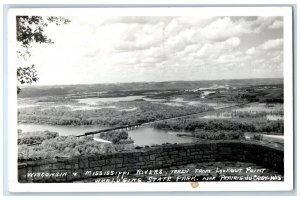
[[(18, 59), (27, 60), (30, 56), (32, 43), (53, 44), (54, 42), (44, 33), (44, 28), (49, 23), (55, 23), (57, 26), (69, 23), (70, 20), (64, 17), (42, 17), (42, 16), (17, 16), (17, 42), (20, 43), (20, 50), (17, 51)], [(19, 66), (17, 68), (17, 79), (19, 84), (32, 84), (38, 81), (37, 71), (31, 66)], [(17, 86), (17, 93), (21, 89)]]

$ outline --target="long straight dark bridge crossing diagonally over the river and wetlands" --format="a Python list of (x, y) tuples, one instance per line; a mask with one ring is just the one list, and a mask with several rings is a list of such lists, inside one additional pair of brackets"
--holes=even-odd
[(150, 124), (153, 124), (156, 122), (161, 122), (161, 121), (166, 121), (166, 120), (180, 119), (180, 118), (191, 117), (191, 116), (206, 116), (206, 115), (213, 114), (213, 113), (220, 112), (220, 111), (226, 111), (226, 110), (232, 110), (235, 108), (240, 108), (240, 107), (243, 107), (248, 104), (250, 104), (250, 103), (226, 106), (226, 107), (222, 107), (222, 108), (218, 108), (218, 109), (214, 109), (214, 110), (210, 110), (210, 111), (191, 113), (191, 114), (187, 114), (187, 115), (180, 115), (180, 116), (175, 116), (175, 117), (170, 117), (170, 118), (165, 118), (165, 119), (158, 119), (158, 120), (145, 122), (145, 123), (138, 123), (138, 124), (132, 124), (132, 125), (124, 125), (124, 126), (118, 126), (118, 127), (113, 127), (113, 128), (101, 129), (101, 130), (97, 130), (97, 131), (86, 132), (83, 135), (77, 135), (76, 137), (79, 138), (79, 137), (84, 137), (84, 136), (89, 136), (89, 135), (94, 136), (95, 134), (104, 133), (104, 132), (108, 132), (108, 131), (127, 130), (130, 128), (137, 128), (140, 126), (150, 125)]

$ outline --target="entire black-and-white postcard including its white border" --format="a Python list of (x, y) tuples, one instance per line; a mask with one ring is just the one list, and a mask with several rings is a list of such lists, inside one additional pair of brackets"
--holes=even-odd
[(290, 10), (36, 10), (9, 21), (19, 187), (290, 188)]

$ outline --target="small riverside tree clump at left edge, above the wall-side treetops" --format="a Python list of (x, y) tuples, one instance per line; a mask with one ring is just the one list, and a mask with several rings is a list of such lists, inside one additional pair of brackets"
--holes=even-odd
[(18, 145), (42, 143), (44, 140), (56, 137), (58, 137), (58, 133), (50, 131), (20, 132), (18, 133)]

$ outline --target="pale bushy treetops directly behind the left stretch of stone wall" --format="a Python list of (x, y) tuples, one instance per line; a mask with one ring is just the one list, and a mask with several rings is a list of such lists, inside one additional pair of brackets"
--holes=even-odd
[(114, 145), (94, 141), (92, 137), (59, 136), (39, 146), (18, 145), (18, 159), (46, 159), (90, 154), (107, 154), (134, 149), (133, 144)]

